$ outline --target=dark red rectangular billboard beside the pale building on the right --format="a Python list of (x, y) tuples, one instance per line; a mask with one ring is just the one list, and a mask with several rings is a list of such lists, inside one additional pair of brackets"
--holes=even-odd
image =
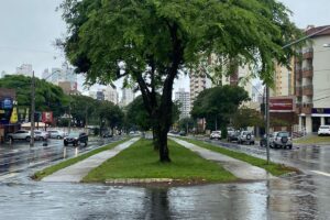
[(293, 97), (271, 97), (270, 98), (271, 112), (294, 112), (295, 102)]

